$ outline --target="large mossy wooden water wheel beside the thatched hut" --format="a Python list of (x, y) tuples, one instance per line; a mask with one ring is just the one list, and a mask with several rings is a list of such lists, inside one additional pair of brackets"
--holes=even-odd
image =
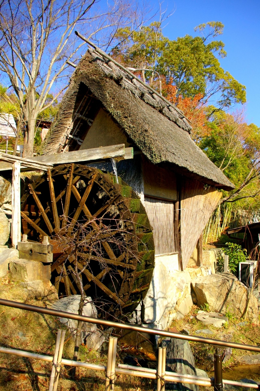
[[(117, 184), (91, 167), (58, 165), (28, 184), (21, 218), (28, 240), (48, 236), (53, 244), (52, 283), (60, 297), (80, 293), (76, 271), (102, 317), (129, 314), (146, 295), (153, 234), (139, 197), (120, 178)], [(90, 251), (93, 237), (98, 246), (92, 241)], [(75, 240), (82, 238), (76, 264)]]

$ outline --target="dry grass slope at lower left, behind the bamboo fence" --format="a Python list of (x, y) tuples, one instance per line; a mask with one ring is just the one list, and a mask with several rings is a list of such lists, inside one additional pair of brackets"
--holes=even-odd
[[(10, 282), (8, 276), (0, 278), (0, 297), (41, 307), (50, 304), (28, 299), (23, 288)], [(53, 355), (58, 328), (64, 326), (52, 316), (0, 306), (0, 346)], [(63, 358), (72, 359), (73, 347), (73, 339), (67, 332)], [(107, 362), (106, 355), (89, 351), (85, 346), (80, 346), (79, 359), (101, 365)], [(50, 363), (0, 353), (0, 391), (45, 391), (49, 387), (50, 372)], [(71, 378), (70, 367), (62, 367), (59, 391), (103, 391), (104, 387), (104, 372), (77, 368), (76, 377)], [(149, 379), (117, 376), (115, 391), (126, 389), (151, 390), (153, 387)]]

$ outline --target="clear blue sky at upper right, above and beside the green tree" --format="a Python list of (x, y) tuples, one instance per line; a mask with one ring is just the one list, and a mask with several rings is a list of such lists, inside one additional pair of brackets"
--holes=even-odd
[[(156, 8), (157, 0), (151, 1)], [(224, 23), (219, 39), (225, 43), (227, 57), (220, 59), (221, 66), (246, 86), (247, 122), (260, 127), (260, 0), (170, 0), (168, 9), (173, 8), (175, 13), (163, 30), (169, 39), (194, 36), (194, 27), (201, 23)]]

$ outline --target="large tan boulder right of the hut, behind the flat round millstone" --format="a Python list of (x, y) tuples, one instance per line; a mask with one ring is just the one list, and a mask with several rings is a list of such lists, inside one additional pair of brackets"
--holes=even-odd
[[(192, 298), (198, 307), (209, 305), (211, 311), (226, 313), (240, 318), (246, 312), (250, 290), (232, 273), (217, 273), (198, 277), (191, 282)], [(258, 323), (258, 302), (251, 296), (248, 318)]]

